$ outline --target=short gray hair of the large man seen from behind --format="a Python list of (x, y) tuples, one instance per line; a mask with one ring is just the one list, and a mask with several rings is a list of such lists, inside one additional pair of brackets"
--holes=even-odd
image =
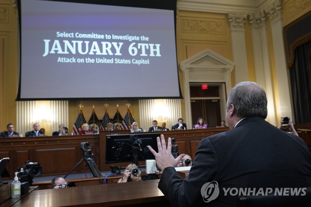
[(236, 84), (230, 91), (227, 109), (233, 104), (235, 113), (241, 118), (267, 118), (267, 96), (265, 90), (255, 82), (246, 81)]

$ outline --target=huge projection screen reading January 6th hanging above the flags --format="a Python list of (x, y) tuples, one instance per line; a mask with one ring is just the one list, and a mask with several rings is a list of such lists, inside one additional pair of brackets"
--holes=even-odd
[(181, 98), (173, 10), (19, 3), (17, 100)]

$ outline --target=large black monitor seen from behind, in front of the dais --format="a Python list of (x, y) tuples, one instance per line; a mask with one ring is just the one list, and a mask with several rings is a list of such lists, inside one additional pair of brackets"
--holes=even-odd
[(160, 133), (106, 135), (106, 163), (155, 159), (148, 145), (158, 152), (156, 138)]

